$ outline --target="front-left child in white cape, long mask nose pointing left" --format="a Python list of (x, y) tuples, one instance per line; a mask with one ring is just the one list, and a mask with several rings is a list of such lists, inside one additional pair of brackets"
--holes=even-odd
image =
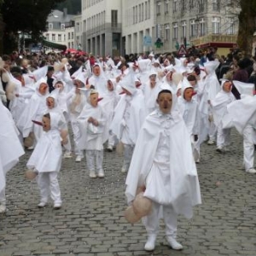
[(43, 116), (43, 134), (40, 137), (26, 166), (38, 172), (37, 182), (41, 200), (38, 207), (45, 207), (49, 195), (54, 201), (54, 208), (61, 207), (61, 190), (58, 172), (61, 170), (61, 115), (46, 113)]

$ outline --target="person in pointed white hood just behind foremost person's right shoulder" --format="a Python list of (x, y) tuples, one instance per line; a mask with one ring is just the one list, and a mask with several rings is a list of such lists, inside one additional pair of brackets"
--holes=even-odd
[(200, 161), (200, 150), (199, 148), (195, 148), (195, 143), (198, 141), (200, 128), (198, 103), (194, 98), (194, 88), (189, 83), (189, 81), (184, 78), (181, 84), (181, 96), (178, 97), (177, 100), (177, 109), (181, 113), (183, 120), (188, 128), (195, 162), (198, 163)]

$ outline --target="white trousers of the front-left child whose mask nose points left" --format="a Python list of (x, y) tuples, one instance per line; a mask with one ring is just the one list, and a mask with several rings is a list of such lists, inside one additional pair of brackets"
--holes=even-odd
[(58, 182), (58, 172), (40, 172), (37, 177), (40, 189), (41, 202), (47, 202), (50, 198), (55, 203), (61, 203), (61, 190)]

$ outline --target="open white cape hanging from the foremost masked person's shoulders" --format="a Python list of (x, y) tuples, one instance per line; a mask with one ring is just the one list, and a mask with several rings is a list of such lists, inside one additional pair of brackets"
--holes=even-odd
[[(170, 136), (170, 197), (175, 212), (192, 218), (192, 207), (201, 204), (200, 185), (189, 133), (179, 113), (172, 114), (173, 117)], [(154, 111), (148, 115), (139, 133), (125, 182), (128, 204), (134, 200), (137, 188), (146, 183), (160, 139), (160, 125), (157, 111)]]

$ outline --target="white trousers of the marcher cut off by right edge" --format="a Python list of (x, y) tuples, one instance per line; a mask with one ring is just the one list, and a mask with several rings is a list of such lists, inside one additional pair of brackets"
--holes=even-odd
[(247, 126), (243, 131), (243, 164), (245, 170), (254, 166), (254, 142), (256, 141), (256, 131), (252, 126)]

